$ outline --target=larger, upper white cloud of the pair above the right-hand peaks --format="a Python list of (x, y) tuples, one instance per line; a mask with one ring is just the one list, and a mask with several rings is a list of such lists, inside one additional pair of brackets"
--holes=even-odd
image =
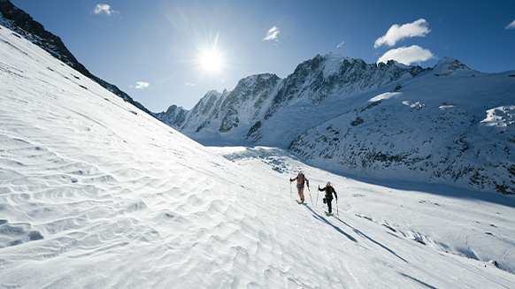
[(400, 42), (405, 38), (417, 37), (417, 36), (426, 36), (431, 30), (427, 28), (426, 19), (418, 19), (415, 22), (404, 24), (403, 26), (399, 26), (397, 24), (392, 25), (388, 29), (387, 34), (380, 36), (375, 43), (373, 44), (374, 48), (378, 48), (381, 45), (388, 45), (392, 47), (396, 45), (396, 42)]

